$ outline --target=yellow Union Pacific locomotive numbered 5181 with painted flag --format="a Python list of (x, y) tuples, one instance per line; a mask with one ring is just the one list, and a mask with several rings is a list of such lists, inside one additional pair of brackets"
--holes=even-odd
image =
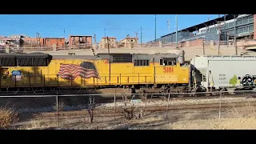
[(65, 86), (188, 85), (177, 54), (0, 54), (1, 89)]

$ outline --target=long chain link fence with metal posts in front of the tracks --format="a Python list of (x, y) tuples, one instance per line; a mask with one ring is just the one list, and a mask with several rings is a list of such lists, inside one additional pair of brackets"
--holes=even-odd
[(2, 129), (26, 130), (168, 129), (175, 122), (255, 118), (255, 97), (254, 90), (196, 94), (0, 96), (0, 126)]

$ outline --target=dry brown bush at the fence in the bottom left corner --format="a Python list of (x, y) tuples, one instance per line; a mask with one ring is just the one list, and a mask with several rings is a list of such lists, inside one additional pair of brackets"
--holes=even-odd
[(7, 109), (6, 107), (0, 108), (0, 128), (7, 129), (14, 122), (18, 122), (18, 113), (13, 109)]

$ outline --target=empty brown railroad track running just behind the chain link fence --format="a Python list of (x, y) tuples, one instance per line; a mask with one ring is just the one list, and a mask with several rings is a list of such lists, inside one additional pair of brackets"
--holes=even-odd
[[(228, 108), (231, 106), (245, 106), (248, 102), (232, 102), (232, 103), (222, 103), (222, 108)], [(256, 102), (250, 102), (251, 106), (256, 106)], [(181, 106), (169, 106), (168, 110), (197, 110), (197, 109), (217, 109), (219, 108), (219, 103), (210, 103), (210, 104), (196, 104), (196, 105), (181, 105)], [(128, 109), (130, 106), (128, 106)], [(166, 106), (147, 106), (145, 112), (156, 112), (156, 111), (165, 111)], [(138, 110), (142, 110), (143, 106), (139, 106)], [(95, 109), (95, 117), (109, 117), (109, 116), (118, 116), (122, 114), (124, 108), (122, 106), (106, 109)], [(56, 117), (57, 112), (47, 112), (37, 115), (37, 118), (54, 118)], [(86, 110), (70, 110), (70, 111), (59, 111), (58, 118), (85, 118), (88, 116)]]

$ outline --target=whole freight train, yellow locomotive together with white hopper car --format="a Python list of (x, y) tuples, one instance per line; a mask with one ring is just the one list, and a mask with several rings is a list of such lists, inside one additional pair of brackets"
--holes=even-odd
[(123, 86), (145, 92), (195, 92), (256, 86), (254, 56), (179, 54), (0, 54), (1, 90)]

